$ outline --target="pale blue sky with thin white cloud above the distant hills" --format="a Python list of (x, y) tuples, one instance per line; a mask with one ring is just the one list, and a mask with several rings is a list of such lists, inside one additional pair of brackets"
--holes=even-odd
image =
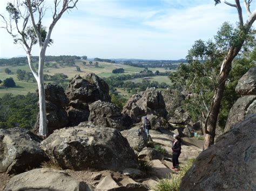
[[(5, 16), (8, 1), (0, 1)], [(45, 1), (44, 26), (50, 24), (52, 2)], [(241, 5), (245, 10), (242, 1)], [(79, 0), (77, 9), (65, 12), (56, 24), (46, 55), (178, 60), (185, 58), (194, 41), (212, 39), (226, 21), (238, 21), (236, 9), (224, 3), (215, 6), (213, 0)], [(38, 55), (38, 45), (32, 54)], [(0, 58), (21, 55), (22, 46), (0, 29)]]

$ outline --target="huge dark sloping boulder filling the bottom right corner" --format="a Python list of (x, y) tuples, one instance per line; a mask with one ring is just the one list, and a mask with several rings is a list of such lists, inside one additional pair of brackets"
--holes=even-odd
[(256, 114), (201, 152), (180, 190), (255, 190)]

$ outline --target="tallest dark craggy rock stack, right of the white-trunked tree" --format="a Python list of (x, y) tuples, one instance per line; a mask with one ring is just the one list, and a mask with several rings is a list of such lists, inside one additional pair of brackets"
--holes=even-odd
[(68, 116), (71, 126), (87, 121), (90, 111), (89, 104), (97, 100), (111, 102), (109, 86), (95, 74), (89, 73), (81, 77), (73, 77), (66, 89), (69, 98)]

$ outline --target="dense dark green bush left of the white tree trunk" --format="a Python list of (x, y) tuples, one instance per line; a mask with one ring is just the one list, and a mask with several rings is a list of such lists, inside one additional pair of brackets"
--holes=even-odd
[(0, 98), (0, 128), (32, 129), (38, 114), (38, 97), (28, 93), (26, 96), (5, 94)]

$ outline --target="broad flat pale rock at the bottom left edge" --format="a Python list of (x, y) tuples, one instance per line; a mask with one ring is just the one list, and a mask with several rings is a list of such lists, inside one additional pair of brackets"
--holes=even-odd
[(85, 190), (93, 187), (73, 179), (63, 171), (37, 168), (10, 179), (4, 190)]

